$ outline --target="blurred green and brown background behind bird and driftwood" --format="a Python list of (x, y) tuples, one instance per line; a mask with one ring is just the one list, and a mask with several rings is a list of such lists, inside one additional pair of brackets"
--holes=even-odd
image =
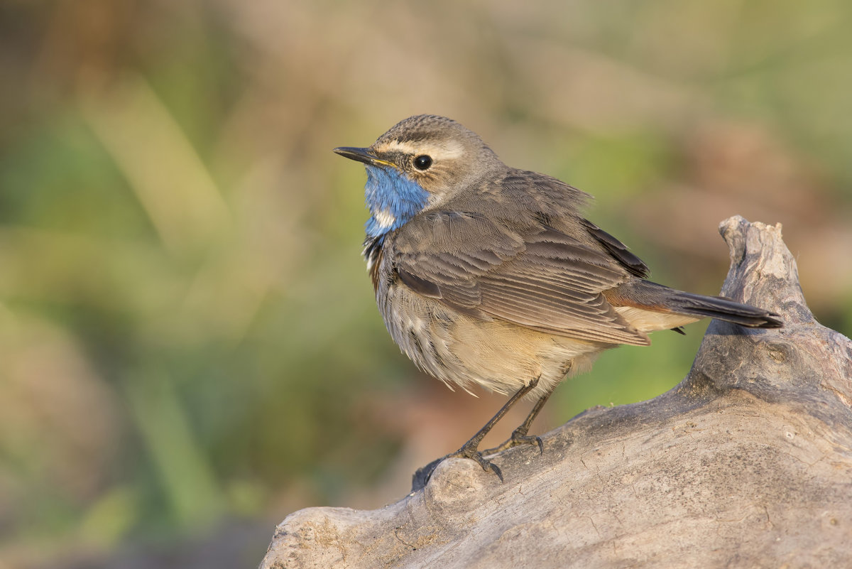
[[(502, 404), (417, 373), (360, 259), (366, 146), (432, 112), (596, 196), (666, 284), (780, 221), (852, 329), (852, 3), (0, 3), (0, 567), (256, 566), (379, 508)], [(648, 399), (704, 325), (538, 421)], [(520, 421), (521, 409), (487, 442)]]

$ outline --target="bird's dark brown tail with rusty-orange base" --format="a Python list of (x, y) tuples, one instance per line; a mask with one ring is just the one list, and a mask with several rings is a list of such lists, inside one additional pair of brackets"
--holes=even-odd
[[(779, 315), (734, 302), (724, 296), (704, 296), (671, 289), (644, 279), (635, 279), (614, 290), (622, 306), (655, 312), (676, 313), (699, 318), (715, 318), (749, 328), (780, 328)], [(615, 300), (615, 299), (613, 299)], [(612, 301), (611, 301), (612, 302)]]

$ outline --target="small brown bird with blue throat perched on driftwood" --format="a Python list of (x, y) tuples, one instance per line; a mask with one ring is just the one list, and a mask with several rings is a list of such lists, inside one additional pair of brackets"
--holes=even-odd
[[(452, 388), (515, 392), (458, 451), (503, 480), (486, 456), (519, 444), (568, 375), (620, 344), (709, 317), (778, 328), (778, 315), (653, 283), (619, 239), (583, 216), (590, 196), (511, 168), (449, 118), (406, 118), (371, 147), (334, 152), (366, 165), (364, 256), (384, 323), (421, 370)], [(521, 398), (533, 411), (494, 449), (481, 440)], [(443, 457), (446, 458), (446, 457)], [(415, 475), (428, 480), (443, 458)]]

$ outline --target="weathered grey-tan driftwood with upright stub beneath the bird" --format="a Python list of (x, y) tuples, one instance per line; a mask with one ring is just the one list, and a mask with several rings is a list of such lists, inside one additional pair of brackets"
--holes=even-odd
[(261, 566), (852, 566), (852, 342), (815, 321), (780, 227), (720, 231), (722, 294), (784, 328), (714, 321), (676, 388), (505, 451), (504, 483), (457, 458), (383, 509), (300, 510)]

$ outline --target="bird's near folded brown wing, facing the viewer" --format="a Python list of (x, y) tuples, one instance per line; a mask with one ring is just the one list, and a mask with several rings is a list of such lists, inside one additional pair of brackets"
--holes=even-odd
[(474, 213), (418, 216), (394, 235), (404, 284), (481, 319), (610, 343), (647, 345), (602, 292), (630, 279), (606, 248), (541, 224)]

